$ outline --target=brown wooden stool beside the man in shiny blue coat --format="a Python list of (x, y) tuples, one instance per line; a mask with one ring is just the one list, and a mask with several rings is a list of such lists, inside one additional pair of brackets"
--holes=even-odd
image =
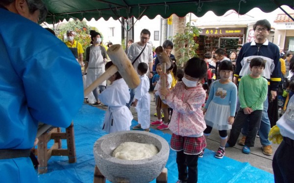
[[(53, 128), (49, 132), (43, 133), (39, 138), (38, 149), (34, 150), (38, 156), (38, 173), (47, 173), (47, 163), (51, 156), (68, 156), (69, 163), (76, 162), (75, 143), (73, 133), (73, 122), (66, 128), (66, 132), (61, 132), (59, 127)], [(54, 140), (54, 144), (48, 149), (47, 143)], [(67, 149), (61, 149), (61, 140), (67, 140)]]

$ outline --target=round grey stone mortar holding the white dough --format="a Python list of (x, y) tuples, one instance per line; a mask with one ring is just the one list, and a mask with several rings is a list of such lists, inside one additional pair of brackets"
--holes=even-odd
[[(123, 142), (154, 144), (158, 153), (143, 160), (121, 160), (112, 157)], [(143, 131), (122, 131), (102, 136), (94, 144), (95, 163), (102, 175), (112, 183), (149, 183), (162, 172), (170, 154), (168, 142), (162, 137)]]

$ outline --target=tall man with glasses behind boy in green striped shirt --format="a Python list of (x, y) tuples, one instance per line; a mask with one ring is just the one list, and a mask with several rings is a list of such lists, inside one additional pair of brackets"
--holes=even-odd
[[(253, 25), (255, 40), (244, 44), (239, 52), (234, 82), (237, 84), (242, 76), (250, 73), (249, 64), (253, 58), (260, 57), (266, 62), (266, 67), (262, 76), (269, 81), (269, 99), (274, 100), (277, 96), (279, 82), (281, 81), (281, 65), (279, 64), (280, 52), (277, 45), (269, 42), (267, 36), (270, 31), (270, 22), (268, 20), (258, 20)], [(268, 140), (270, 132), (270, 120), (268, 116), (268, 99), (264, 102), (264, 110), (259, 128), (259, 137), (262, 144), (263, 153), (272, 155), (271, 143)], [(247, 133), (247, 125), (243, 126), (242, 133), (244, 137), (239, 144), (244, 144)]]

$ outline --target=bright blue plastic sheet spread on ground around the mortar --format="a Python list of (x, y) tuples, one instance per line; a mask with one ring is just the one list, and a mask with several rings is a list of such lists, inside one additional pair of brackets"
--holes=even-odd
[[(55, 156), (48, 161), (48, 173), (40, 174), (40, 183), (93, 183), (95, 160), (93, 155), (94, 142), (106, 133), (102, 124), (105, 111), (84, 104), (73, 119), (76, 163), (69, 163), (68, 157)], [(133, 120), (132, 126), (137, 122)], [(64, 130), (64, 129), (63, 129)], [(151, 129), (167, 142), (171, 135), (160, 130)], [(62, 141), (66, 148), (66, 141)], [(241, 163), (228, 157), (217, 159), (215, 152), (205, 149), (203, 158), (198, 160), (198, 183), (274, 183), (273, 175), (251, 166), (249, 163)], [(168, 183), (177, 181), (176, 153), (170, 150), (170, 156), (166, 167), (168, 168)], [(134, 174), (134, 176), (140, 175)], [(106, 181), (109, 183), (108, 181)], [(151, 183), (155, 183), (153, 180)]]

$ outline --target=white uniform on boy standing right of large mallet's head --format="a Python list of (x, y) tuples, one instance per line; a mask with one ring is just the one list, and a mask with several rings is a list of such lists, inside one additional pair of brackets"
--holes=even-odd
[(140, 80), (134, 97), (138, 100), (135, 108), (138, 113), (138, 123), (143, 129), (147, 129), (150, 127), (150, 94), (148, 93), (150, 83), (146, 74), (141, 76)]

